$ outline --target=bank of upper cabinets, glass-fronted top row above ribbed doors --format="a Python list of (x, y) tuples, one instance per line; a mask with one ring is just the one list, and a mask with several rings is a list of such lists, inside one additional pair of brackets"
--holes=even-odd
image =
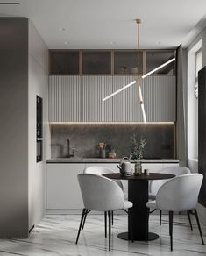
[[(174, 50), (50, 51), (49, 120), (52, 122), (142, 122), (137, 84), (105, 96), (175, 56)], [(139, 62), (139, 63), (138, 63)], [(142, 80), (148, 122), (175, 122), (175, 63)]]

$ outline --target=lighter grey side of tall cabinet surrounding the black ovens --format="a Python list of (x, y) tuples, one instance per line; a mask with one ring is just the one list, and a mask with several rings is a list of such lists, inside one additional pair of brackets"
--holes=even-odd
[[(29, 226), (38, 224), (45, 212), (46, 159), (50, 158), (48, 124), (48, 50), (29, 22)], [(43, 98), (43, 161), (36, 163), (36, 96)]]

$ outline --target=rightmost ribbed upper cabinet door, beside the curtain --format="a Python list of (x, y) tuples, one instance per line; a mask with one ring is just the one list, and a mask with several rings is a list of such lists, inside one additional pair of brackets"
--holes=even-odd
[(142, 81), (142, 90), (148, 122), (176, 120), (175, 76), (148, 76)]

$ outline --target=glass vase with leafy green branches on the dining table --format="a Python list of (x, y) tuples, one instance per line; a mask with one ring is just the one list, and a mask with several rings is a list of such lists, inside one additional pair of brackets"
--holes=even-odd
[(142, 174), (142, 159), (144, 156), (144, 150), (146, 147), (146, 138), (137, 139), (137, 135), (133, 134), (131, 136), (131, 154), (130, 160), (135, 162), (134, 164), (134, 174), (141, 175)]

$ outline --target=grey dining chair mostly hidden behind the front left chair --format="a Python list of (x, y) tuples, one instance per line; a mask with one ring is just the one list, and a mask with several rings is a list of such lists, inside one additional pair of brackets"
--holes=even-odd
[[(87, 167), (84, 169), (84, 174), (97, 174), (97, 175), (103, 175), (103, 174), (113, 174), (114, 171), (111, 170), (108, 167), (103, 167), (103, 166), (91, 166), (91, 167)], [(114, 180), (118, 186), (124, 191), (124, 187), (123, 187), (123, 182), (120, 180)], [(90, 210), (87, 210), (85, 216), (84, 216), (84, 220), (83, 220), (83, 224), (82, 224), (82, 229), (84, 228), (84, 224), (87, 218), (88, 213), (90, 212)], [(107, 214), (106, 212), (104, 212), (104, 223), (105, 223), (105, 238), (107, 237)], [(113, 216), (113, 211), (111, 212), (111, 224), (113, 225), (114, 223), (114, 216)]]

